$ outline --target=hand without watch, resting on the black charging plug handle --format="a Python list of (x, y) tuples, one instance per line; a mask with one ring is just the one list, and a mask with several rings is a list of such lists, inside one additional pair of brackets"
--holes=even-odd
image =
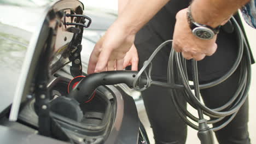
[(122, 25), (114, 22), (95, 45), (89, 59), (88, 74), (105, 70), (123, 70), (124, 57), (134, 39), (134, 34), (127, 34)]

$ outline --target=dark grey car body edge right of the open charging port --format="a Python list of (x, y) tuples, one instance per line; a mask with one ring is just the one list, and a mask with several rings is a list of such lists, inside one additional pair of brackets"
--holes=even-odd
[(130, 95), (120, 91), (120, 88), (108, 87), (112, 87), (112, 90), (115, 93), (120, 93), (122, 97), (117, 97), (117, 117), (106, 143), (137, 143), (139, 118), (134, 100)]

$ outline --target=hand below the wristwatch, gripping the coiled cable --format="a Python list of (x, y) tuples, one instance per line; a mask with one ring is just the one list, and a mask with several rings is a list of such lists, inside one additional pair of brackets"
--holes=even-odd
[(182, 52), (186, 59), (200, 61), (205, 56), (211, 56), (217, 49), (215, 43), (217, 35), (213, 39), (203, 40), (197, 38), (191, 32), (187, 20), (187, 9), (180, 10), (176, 15), (176, 24), (173, 33), (173, 48), (177, 52)]

